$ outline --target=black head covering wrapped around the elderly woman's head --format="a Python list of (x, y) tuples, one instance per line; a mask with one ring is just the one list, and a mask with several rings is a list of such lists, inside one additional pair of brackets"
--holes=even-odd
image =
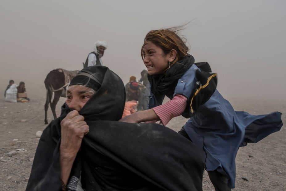
[[(120, 77), (106, 66), (89, 66), (82, 69), (71, 80), (69, 86), (71, 85), (83, 85), (96, 91), (79, 112), (85, 120), (121, 119), (125, 104), (125, 87)], [(61, 115), (66, 115), (70, 110), (64, 104)]]

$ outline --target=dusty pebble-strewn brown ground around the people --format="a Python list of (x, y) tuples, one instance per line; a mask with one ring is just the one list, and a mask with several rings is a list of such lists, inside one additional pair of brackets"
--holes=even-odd
[[(8, 103), (0, 99), (0, 190), (25, 190), (32, 160), (39, 138), (37, 131), (43, 131), (45, 89), (29, 91), (29, 103)], [(3, 92), (0, 91), (3, 95)], [(252, 114), (263, 114), (273, 111), (286, 113), (286, 103), (279, 101), (263, 101), (250, 99), (231, 99), (236, 110), (244, 110)], [(64, 98), (57, 105), (57, 113)], [(52, 114), (49, 109), (49, 122)], [(285, 115), (282, 115), (284, 123)], [(176, 117), (168, 126), (178, 131), (186, 122), (183, 117)], [(18, 139), (18, 140), (16, 140)], [(244, 190), (286, 190), (286, 131), (271, 134), (257, 144), (249, 144), (238, 151), (236, 157), (236, 188)], [(18, 151), (14, 156), (8, 156), (10, 151)], [(249, 181), (243, 180), (242, 177)], [(214, 190), (207, 173), (204, 173), (203, 190)]]

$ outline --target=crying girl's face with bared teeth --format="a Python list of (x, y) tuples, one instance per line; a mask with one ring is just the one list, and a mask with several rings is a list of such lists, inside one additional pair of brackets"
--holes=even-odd
[(168, 67), (169, 55), (154, 43), (147, 41), (143, 47), (143, 62), (148, 74), (164, 74)]

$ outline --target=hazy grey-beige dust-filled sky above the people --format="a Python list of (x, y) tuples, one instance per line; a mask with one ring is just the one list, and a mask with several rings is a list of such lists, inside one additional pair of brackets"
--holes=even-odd
[(102, 57), (127, 83), (145, 69), (140, 49), (152, 29), (181, 32), (196, 62), (209, 62), (226, 96), (286, 95), (286, 1), (0, 1), (0, 88), (10, 79), (43, 87), (49, 71), (81, 70), (97, 40)]

